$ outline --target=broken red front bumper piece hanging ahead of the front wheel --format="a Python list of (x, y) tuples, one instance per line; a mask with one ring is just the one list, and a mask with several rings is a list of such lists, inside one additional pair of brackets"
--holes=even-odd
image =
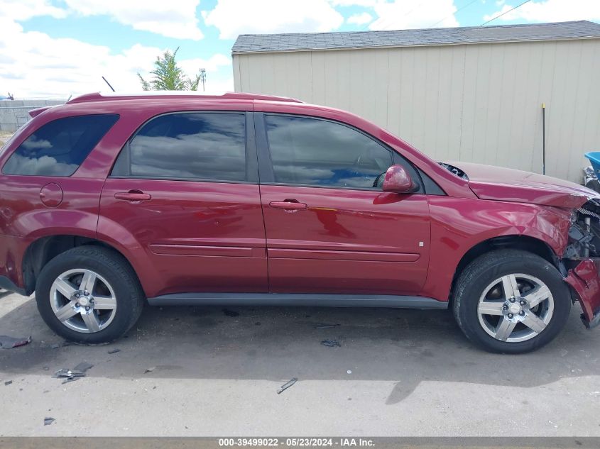
[(567, 282), (579, 296), (582, 305), (582, 321), (587, 328), (600, 324), (600, 260), (586, 259), (569, 270)]

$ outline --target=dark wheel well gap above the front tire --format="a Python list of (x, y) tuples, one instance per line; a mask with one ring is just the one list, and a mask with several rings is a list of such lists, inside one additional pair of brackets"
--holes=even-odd
[(537, 238), (528, 237), (527, 235), (501, 235), (500, 237), (490, 238), (483, 242), (477, 243), (473, 248), (464, 253), (462, 259), (457, 265), (457, 269), (454, 272), (454, 278), (452, 279), (452, 288), (450, 290), (449, 300), (452, 302), (452, 296), (454, 293), (454, 285), (457, 282), (458, 277), (462, 273), (469, 263), (473, 262), (477, 257), (489, 253), (493, 250), (500, 249), (511, 249), (511, 250), (523, 250), (528, 253), (533, 253), (547, 260), (552, 265), (559, 269), (559, 259), (555, 255), (552, 248), (547, 243)]

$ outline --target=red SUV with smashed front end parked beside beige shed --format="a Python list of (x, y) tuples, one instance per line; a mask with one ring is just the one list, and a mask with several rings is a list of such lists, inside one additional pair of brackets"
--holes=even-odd
[(145, 301), (454, 311), (486, 350), (600, 321), (600, 197), (438, 163), (337, 109), (251, 94), (37, 109), (0, 152), (0, 287), (56, 333), (122, 336)]

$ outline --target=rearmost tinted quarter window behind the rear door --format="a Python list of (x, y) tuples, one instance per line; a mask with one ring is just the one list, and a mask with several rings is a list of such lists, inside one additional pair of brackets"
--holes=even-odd
[(117, 114), (97, 114), (46, 123), (18, 146), (2, 172), (71, 176), (117, 120)]

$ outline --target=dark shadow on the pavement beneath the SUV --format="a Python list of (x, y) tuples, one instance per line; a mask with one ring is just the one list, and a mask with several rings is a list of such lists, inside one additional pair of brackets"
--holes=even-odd
[(0, 369), (50, 376), (86, 361), (87, 376), (113, 379), (384, 380), (395, 382), (386, 404), (397, 404), (422, 381), (538, 387), (599, 375), (600, 333), (578, 314), (576, 305), (560, 336), (527, 355), (474, 348), (450, 311), (407, 309), (146, 307), (114, 343), (62, 345), (29, 299), (0, 318), (0, 334), (33, 336), (0, 350)]

